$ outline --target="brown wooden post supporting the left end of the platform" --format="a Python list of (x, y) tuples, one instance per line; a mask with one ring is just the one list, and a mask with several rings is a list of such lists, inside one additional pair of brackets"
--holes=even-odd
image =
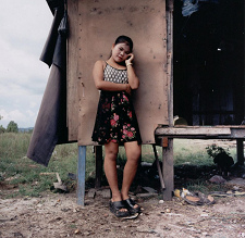
[(168, 147), (162, 148), (162, 172), (166, 189), (163, 200), (172, 200), (173, 185), (173, 139), (168, 139)]

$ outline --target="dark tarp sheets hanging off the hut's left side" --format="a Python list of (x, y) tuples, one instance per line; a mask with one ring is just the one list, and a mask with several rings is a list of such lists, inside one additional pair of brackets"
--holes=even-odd
[(27, 150), (27, 158), (45, 166), (56, 145), (68, 142), (66, 38), (58, 34), (64, 8), (63, 1), (47, 2), (54, 16), (40, 60), (51, 71)]

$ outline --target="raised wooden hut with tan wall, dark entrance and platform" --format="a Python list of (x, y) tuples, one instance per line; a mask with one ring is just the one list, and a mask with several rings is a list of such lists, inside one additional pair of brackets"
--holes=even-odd
[[(50, 7), (54, 1), (47, 2)], [(65, 116), (68, 141), (78, 142), (79, 156), (85, 156), (86, 146), (95, 145), (90, 136), (99, 95), (91, 78), (94, 63), (109, 57), (117, 36), (128, 35), (140, 79), (134, 101), (143, 143), (162, 147), (163, 199), (172, 197), (174, 138), (236, 139), (237, 160), (244, 163), (243, 1), (68, 0), (66, 4)], [(174, 115), (187, 125), (174, 125)]]

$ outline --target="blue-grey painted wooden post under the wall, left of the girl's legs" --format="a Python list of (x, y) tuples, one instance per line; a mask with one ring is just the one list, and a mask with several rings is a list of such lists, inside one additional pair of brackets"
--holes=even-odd
[(77, 204), (84, 206), (85, 198), (85, 175), (86, 175), (86, 147), (78, 147), (77, 163)]

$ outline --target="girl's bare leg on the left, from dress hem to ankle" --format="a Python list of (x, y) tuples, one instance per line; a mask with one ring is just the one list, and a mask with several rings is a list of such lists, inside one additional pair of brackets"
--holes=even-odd
[(112, 201), (121, 201), (122, 196), (118, 185), (118, 173), (117, 173), (117, 156), (119, 152), (119, 145), (109, 142), (105, 145), (105, 162), (103, 168), (107, 176), (108, 184), (112, 192)]

